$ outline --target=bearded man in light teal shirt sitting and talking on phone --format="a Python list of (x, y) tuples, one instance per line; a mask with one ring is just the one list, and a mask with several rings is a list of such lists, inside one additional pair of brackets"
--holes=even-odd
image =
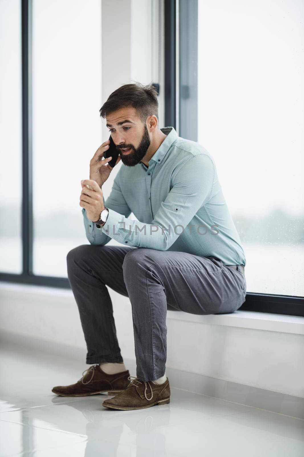
[[(170, 402), (167, 309), (191, 314), (237, 310), (245, 301), (246, 260), (213, 157), (200, 144), (178, 137), (174, 128), (159, 128), (153, 86), (121, 86), (100, 115), (119, 149), (116, 164), (121, 160), (122, 165), (104, 202), (111, 157), (99, 157), (109, 141), (94, 154), (79, 203), (90, 244), (67, 254), (86, 362), (94, 365), (77, 383), (52, 392), (108, 392), (116, 395), (103, 402), (107, 408), (143, 409)], [(128, 218), (131, 212), (138, 221)], [(106, 246), (112, 238), (121, 246)], [(131, 302), (135, 378), (124, 366), (106, 285)]]

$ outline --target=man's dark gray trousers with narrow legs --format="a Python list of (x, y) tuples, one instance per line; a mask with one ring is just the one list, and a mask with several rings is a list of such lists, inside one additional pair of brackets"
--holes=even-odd
[(245, 301), (244, 269), (215, 257), (126, 246), (82, 244), (67, 254), (88, 364), (122, 362), (108, 287), (129, 297), (137, 371), (142, 381), (165, 374), (167, 309), (233, 313)]

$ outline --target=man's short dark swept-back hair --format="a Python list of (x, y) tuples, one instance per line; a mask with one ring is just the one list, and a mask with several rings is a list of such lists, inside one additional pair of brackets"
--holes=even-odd
[(141, 83), (124, 84), (114, 90), (100, 108), (100, 117), (105, 118), (108, 114), (132, 106), (136, 109), (142, 122), (146, 122), (147, 117), (155, 115), (158, 117), (157, 91), (153, 85), (143, 85)]

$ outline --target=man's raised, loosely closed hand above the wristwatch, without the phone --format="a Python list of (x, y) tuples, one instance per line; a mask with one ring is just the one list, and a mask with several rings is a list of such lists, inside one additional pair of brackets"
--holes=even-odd
[(103, 191), (96, 181), (84, 179), (81, 181), (82, 191), (79, 205), (87, 210), (90, 221), (98, 221), (100, 213), (104, 210)]

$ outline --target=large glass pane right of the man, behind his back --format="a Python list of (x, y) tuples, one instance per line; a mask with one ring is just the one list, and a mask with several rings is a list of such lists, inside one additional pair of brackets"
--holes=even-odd
[(247, 291), (303, 296), (304, 4), (198, 4), (198, 141), (242, 239)]

